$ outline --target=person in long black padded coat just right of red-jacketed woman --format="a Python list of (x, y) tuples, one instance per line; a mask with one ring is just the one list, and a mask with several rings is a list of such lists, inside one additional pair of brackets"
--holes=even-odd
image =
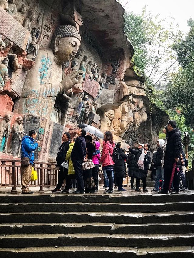
[(123, 177), (126, 177), (125, 160), (128, 158), (128, 156), (127, 154), (125, 154), (125, 151), (121, 148), (120, 143), (116, 144), (112, 157), (115, 162), (114, 170), (118, 186), (118, 192), (126, 191), (126, 189), (123, 188)]

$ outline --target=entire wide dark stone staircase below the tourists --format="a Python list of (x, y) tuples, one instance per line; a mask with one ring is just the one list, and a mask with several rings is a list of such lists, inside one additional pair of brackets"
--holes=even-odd
[(0, 257), (194, 257), (192, 191), (6, 194), (0, 212)]

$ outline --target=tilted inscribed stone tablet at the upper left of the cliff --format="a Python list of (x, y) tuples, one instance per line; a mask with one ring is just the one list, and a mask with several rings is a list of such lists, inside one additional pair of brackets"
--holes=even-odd
[(0, 8), (0, 17), (0, 33), (25, 50), (30, 36), (29, 31), (2, 8)]

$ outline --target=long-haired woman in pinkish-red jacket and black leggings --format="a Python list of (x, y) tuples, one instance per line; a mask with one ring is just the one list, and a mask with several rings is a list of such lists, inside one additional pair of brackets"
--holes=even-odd
[(105, 132), (104, 134), (104, 145), (102, 149), (102, 156), (100, 163), (102, 164), (102, 170), (106, 171), (109, 178), (109, 189), (104, 193), (113, 193), (113, 177), (112, 171), (114, 170), (114, 161), (112, 160), (113, 149), (115, 143), (113, 142), (113, 135), (111, 132)]

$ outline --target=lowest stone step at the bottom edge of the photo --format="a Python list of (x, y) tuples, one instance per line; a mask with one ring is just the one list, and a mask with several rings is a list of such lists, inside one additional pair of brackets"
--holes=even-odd
[(30, 247), (15, 250), (0, 248), (2, 257), (6, 258), (193, 258), (193, 249), (190, 246), (154, 247), (154, 248), (129, 248), (129, 247), (104, 247), (104, 246), (63, 246), (63, 247)]

